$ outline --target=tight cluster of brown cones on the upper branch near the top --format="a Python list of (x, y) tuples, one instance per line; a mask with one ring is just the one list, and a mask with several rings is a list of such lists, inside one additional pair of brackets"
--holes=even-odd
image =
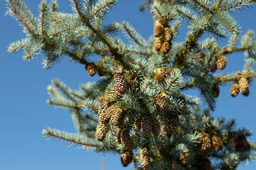
[(158, 40), (154, 42), (155, 51), (167, 54), (172, 49), (173, 33), (171, 28), (164, 28), (161, 24), (157, 25), (154, 29), (154, 37), (158, 37)]

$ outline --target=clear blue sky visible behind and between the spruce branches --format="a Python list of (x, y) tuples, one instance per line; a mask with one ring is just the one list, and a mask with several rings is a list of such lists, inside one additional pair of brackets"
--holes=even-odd
[[(26, 4), (36, 14), (40, 0), (25, 0)], [(68, 0), (59, 0), (61, 11), (70, 12)], [(113, 21), (130, 22), (137, 31), (148, 37), (153, 31), (153, 20), (149, 11), (140, 13), (138, 8), (141, 0), (119, 0), (118, 5), (106, 17), (106, 23)], [(76, 130), (69, 112), (52, 109), (46, 104), (48, 99), (47, 85), (52, 78), (59, 78), (70, 88), (79, 88), (80, 83), (96, 81), (98, 76), (89, 77), (84, 67), (71, 63), (64, 57), (61, 64), (51, 70), (42, 68), (42, 58), (34, 62), (23, 62), (22, 54), (6, 52), (9, 43), (24, 37), (17, 22), (9, 16), (4, 16), (5, 3), (0, 2), (0, 170), (100, 170), (103, 155), (78, 150), (77, 147), (61, 146), (60, 143), (46, 141), (41, 130), (46, 127), (57, 128), (71, 133)], [(256, 31), (256, 10), (232, 14), (243, 31)], [(183, 40), (186, 25), (178, 41)], [(220, 42), (226, 44), (227, 40)], [(228, 55), (227, 68), (222, 73), (242, 70), (244, 65), (243, 53)], [(239, 94), (232, 98), (230, 86), (221, 87), (218, 97), (215, 117), (235, 118), (239, 126), (244, 126), (256, 132), (255, 81), (250, 86), (250, 95), (246, 98)], [(185, 91), (186, 94), (197, 95), (197, 91)], [(256, 142), (256, 136), (250, 139)], [(123, 168), (119, 155), (106, 154), (106, 170), (131, 169)], [(239, 170), (254, 170), (256, 163), (249, 166), (239, 166)]]

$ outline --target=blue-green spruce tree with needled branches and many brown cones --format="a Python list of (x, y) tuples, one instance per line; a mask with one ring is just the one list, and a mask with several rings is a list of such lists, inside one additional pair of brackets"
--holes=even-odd
[[(138, 170), (233, 170), (255, 159), (255, 144), (248, 141), (252, 132), (236, 127), (234, 119), (214, 119), (211, 112), (223, 85), (230, 85), (232, 97), (249, 95), (256, 77), (255, 33), (241, 34), (231, 12), (256, 0), (144, 0), (140, 10), (150, 8), (154, 18), (148, 40), (126, 21), (104, 24), (117, 0), (70, 3), (74, 12), (64, 13), (56, 0), (41, 0), (35, 17), (23, 0), (6, 0), (7, 14), (26, 34), (9, 45), (9, 52), (23, 51), (26, 61), (42, 53), (46, 69), (67, 56), (90, 76), (101, 77), (79, 90), (52, 80), (47, 103), (68, 109), (79, 133), (47, 128), (42, 130), (47, 139), (119, 153), (124, 167), (133, 163)], [(189, 32), (176, 42), (182, 20)], [(117, 37), (119, 30), (131, 43)], [(228, 38), (227, 46), (220, 47), (218, 38)], [(243, 71), (214, 74), (241, 51)], [(97, 62), (90, 60), (93, 54), (100, 56)], [(186, 94), (190, 88), (199, 96)]]

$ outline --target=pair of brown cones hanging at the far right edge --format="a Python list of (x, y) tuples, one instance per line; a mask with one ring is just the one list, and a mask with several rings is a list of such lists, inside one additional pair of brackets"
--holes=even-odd
[(245, 77), (242, 77), (241, 74), (238, 74), (236, 77), (236, 81), (233, 83), (231, 89), (230, 89), (230, 95), (232, 97), (236, 97), (239, 94), (239, 91), (244, 96), (249, 96), (249, 82), (248, 79)]

